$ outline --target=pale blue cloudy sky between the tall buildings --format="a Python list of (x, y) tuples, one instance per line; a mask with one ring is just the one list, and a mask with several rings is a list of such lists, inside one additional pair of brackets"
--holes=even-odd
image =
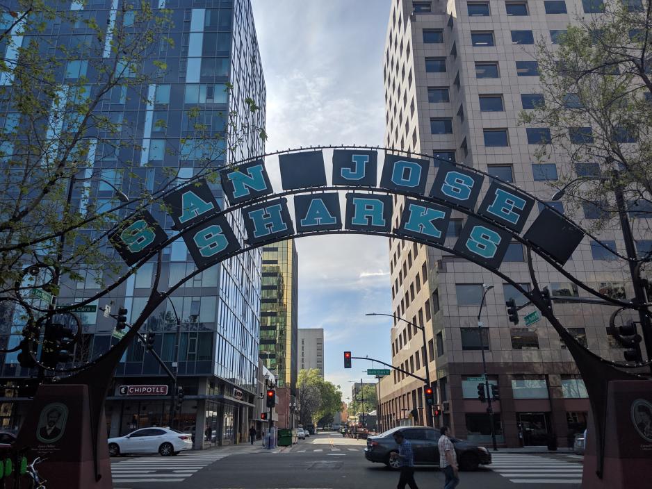
[[(252, 0), (267, 88), (266, 151), (329, 144), (381, 146), (382, 54), (391, 0)], [(325, 154), (329, 174), (330, 153)], [(277, 165), (270, 179), (280, 190)], [(343, 368), (343, 351), (391, 363), (389, 243), (335, 235), (301, 238), (299, 327), (323, 328), (325, 379), (350, 397), (374, 381), (367, 360)]]

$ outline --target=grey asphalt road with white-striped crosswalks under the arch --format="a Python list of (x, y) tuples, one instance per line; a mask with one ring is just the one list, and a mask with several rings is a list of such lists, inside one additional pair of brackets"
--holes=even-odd
[[(398, 473), (364, 458), (364, 440), (323, 433), (291, 449), (193, 451), (176, 457), (113, 458), (117, 489), (381, 489), (395, 488)], [(579, 489), (582, 458), (548, 454), (494, 455), (490, 467), (460, 474), (460, 489)], [(443, 474), (417, 467), (420, 488), (443, 488)]]

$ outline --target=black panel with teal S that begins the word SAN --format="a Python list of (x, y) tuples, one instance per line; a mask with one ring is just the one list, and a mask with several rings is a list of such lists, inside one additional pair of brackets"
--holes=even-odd
[(109, 242), (130, 267), (167, 239), (168, 235), (147, 210), (127, 217), (108, 235)]

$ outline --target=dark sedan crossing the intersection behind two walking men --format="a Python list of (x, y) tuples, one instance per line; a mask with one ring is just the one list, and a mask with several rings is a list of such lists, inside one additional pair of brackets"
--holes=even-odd
[[(439, 465), (439, 449), (437, 448), (439, 430), (427, 426), (400, 426), (378, 436), (370, 436), (367, 438), (364, 457), (370, 462), (380, 462), (393, 469), (398, 468), (398, 459), (392, 460), (389, 457), (393, 451), (398, 453), (398, 445), (392, 437), (393, 433), (398, 430), (405, 433), (405, 438), (412, 445), (415, 465)], [(480, 464), (491, 463), (491, 454), (486, 448), (478, 447), (478, 445), (464, 440), (457, 440), (457, 438), (450, 440), (455, 447), (460, 470), (476, 470)]]

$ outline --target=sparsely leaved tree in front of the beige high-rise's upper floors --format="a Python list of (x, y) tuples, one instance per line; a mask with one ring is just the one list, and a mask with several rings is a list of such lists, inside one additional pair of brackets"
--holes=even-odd
[(605, 2), (604, 13), (576, 21), (558, 45), (537, 45), (544, 103), (521, 120), (550, 128), (551, 138), (535, 157), (557, 163), (556, 188), (582, 176), (567, 188), (567, 206), (593, 209), (596, 228), (615, 213), (616, 187), (628, 210), (651, 217), (652, 0)]

